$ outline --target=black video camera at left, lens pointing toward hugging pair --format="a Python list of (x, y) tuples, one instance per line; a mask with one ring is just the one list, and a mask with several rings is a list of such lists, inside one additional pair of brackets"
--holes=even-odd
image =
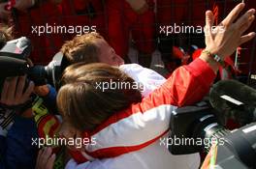
[(5, 43), (0, 50), (1, 84), (6, 77), (27, 74), (38, 86), (48, 83), (58, 89), (62, 71), (67, 66), (63, 54), (57, 53), (48, 66), (32, 66), (28, 59), (31, 50), (31, 42), (25, 37)]

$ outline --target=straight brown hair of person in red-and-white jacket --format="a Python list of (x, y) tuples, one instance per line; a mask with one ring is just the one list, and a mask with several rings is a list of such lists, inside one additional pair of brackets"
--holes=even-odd
[(139, 89), (109, 86), (103, 91), (96, 86), (119, 82), (125, 85), (135, 83), (125, 72), (107, 64), (74, 64), (62, 77), (63, 86), (57, 95), (59, 111), (72, 126), (93, 130), (114, 113), (142, 101)]

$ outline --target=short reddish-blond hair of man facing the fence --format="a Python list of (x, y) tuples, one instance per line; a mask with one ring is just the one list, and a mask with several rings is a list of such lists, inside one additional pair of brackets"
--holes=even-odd
[(95, 44), (95, 40), (98, 39), (104, 40), (100, 34), (95, 32), (77, 36), (73, 40), (65, 42), (60, 51), (70, 64), (98, 63), (100, 48)]

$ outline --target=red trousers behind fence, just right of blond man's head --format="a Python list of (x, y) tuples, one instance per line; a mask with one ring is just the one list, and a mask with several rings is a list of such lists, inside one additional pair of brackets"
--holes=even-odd
[[(152, 1), (149, 3), (153, 7)], [(128, 52), (129, 35), (132, 31), (133, 40), (140, 52), (149, 54), (153, 51), (154, 13), (153, 10), (137, 14), (125, 0), (108, 0), (108, 41), (115, 52), (124, 57)]]

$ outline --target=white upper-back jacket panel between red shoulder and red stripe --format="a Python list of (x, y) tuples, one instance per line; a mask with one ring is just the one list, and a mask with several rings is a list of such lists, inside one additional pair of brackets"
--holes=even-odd
[(92, 135), (96, 145), (89, 144), (85, 149), (94, 152), (109, 147), (138, 146), (157, 138), (160, 135), (159, 131), (169, 128), (171, 112), (175, 109), (176, 106), (166, 104), (144, 113), (135, 113)]

